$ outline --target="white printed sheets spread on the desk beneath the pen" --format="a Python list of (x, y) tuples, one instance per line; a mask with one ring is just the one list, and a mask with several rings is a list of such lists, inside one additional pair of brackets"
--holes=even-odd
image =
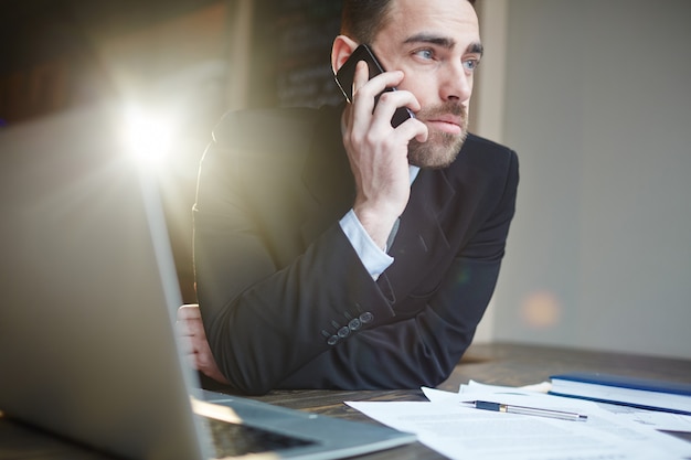
[[(621, 419), (597, 404), (519, 388), (449, 393), (423, 388), (430, 402), (347, 403), (450, 459), (665, 460), (691, 458), (691, 442)], [(587, 421), (489, 411), (464, 400), (577, 411)]]

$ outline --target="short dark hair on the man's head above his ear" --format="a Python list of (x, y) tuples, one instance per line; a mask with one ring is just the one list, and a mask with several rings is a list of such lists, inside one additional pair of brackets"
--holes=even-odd
[[(475, 6), (475, 0), (468, 2)], [(390, 8), (391, 0), (343, 0), (341, 34), (358, 43), (372, 43), (386, 24)]]

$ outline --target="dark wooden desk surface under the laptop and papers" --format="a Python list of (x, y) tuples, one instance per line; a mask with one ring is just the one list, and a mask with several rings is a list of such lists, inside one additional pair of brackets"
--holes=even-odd
[[(496, 343), (472, 345), (451, 376), (438, 388), (456, 392), (460, 384), (469, 379), (496, 385), (520, 386), (543, 382), (552, 374), (570, 371), (609, 372), (691, 383), (691, 360)], [(418, 389), (278, 391), (256, 399), (294, 409), (372, 424), (376, 421), (346, 406), (343, 402), (426, 400)], [(674, 434), (674, 436), (691, 441), (691, 434)], [(444, 459), (421, 443), (376, 452), (363, 458), (370, 460)], [(0, 459), (110, 460), (111, 458), (0, 416)]]

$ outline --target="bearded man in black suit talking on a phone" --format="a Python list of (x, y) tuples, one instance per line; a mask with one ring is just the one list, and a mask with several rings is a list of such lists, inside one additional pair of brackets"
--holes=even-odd
[[(199, 308), (179, 319), (193, 365), (246, 393), (437, 385), (504, 254), (518, 159), (467, 133), (471, 3), (343, 9), (334, 72), (361, 43), (392, 72), (360, 63), (344, 107), (228, 114), (201, 163)], [(415, 118), (394, 128), (398, 107)]]

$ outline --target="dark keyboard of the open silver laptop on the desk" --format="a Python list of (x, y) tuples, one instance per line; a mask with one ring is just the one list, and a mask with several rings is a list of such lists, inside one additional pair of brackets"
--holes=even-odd
[(315, 443), (311, 440), (280, 435), (247, 425), (231, 424), (211, 417), (202, 418), (208, 424), (216, 456), (220, 458), (270, 452)]

